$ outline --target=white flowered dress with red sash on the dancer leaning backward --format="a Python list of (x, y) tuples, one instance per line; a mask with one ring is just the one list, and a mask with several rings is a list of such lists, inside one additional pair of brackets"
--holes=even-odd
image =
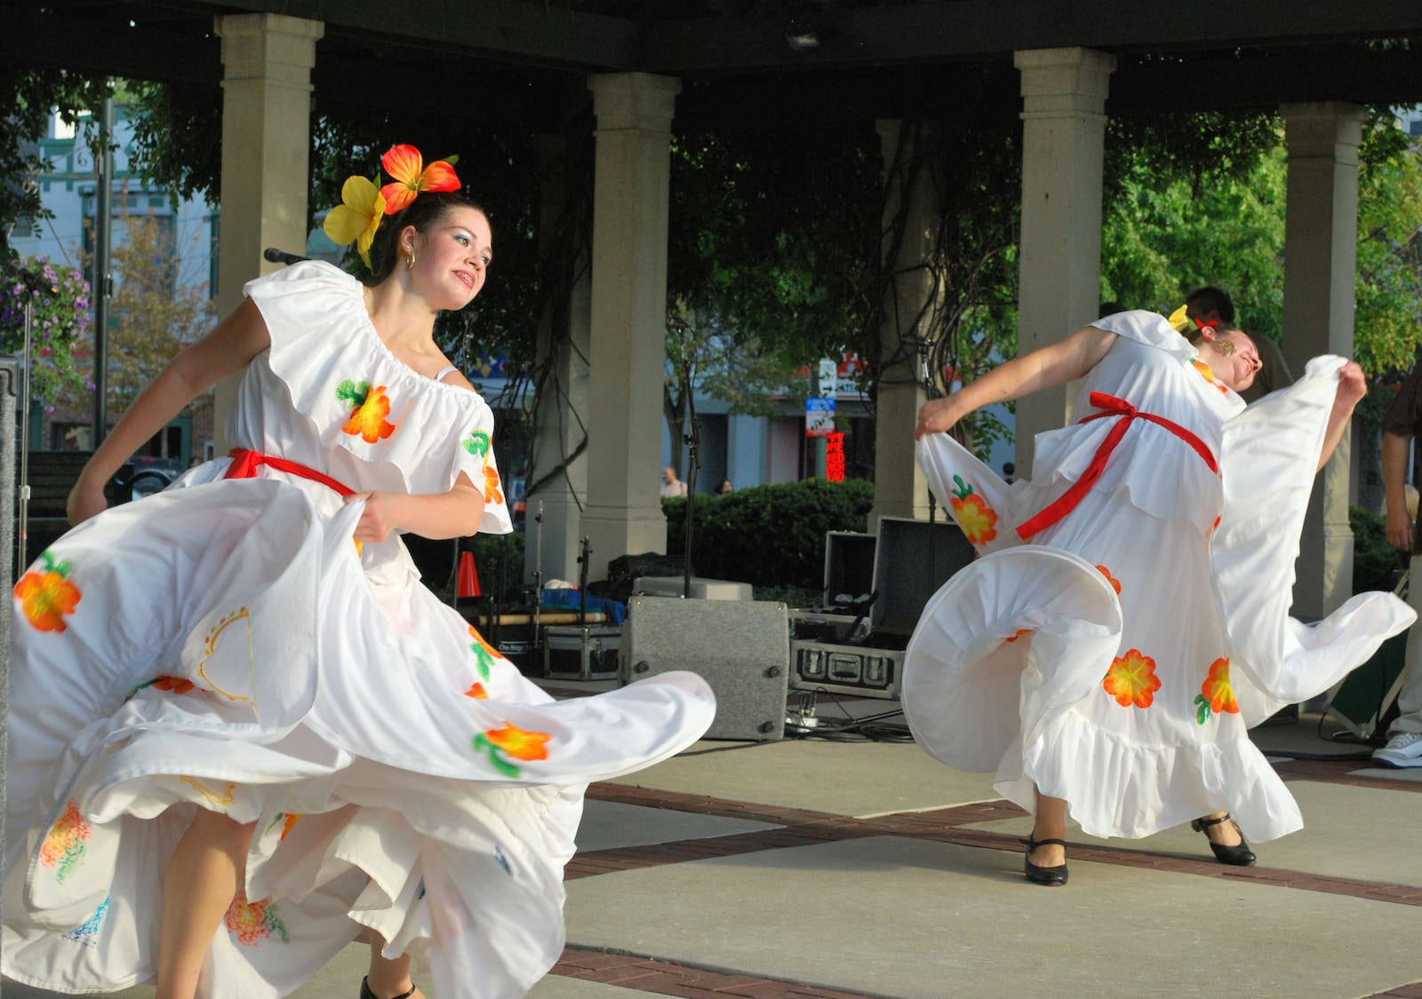
[[(1082, 379), (1072, 425), (1037, 436), (1030, 482), (1008, 486), (946, 433), (919, 442), (981, 557), (910, 641), (909, 725), (948, 766), (995, 767), (997, 790), (1028, 811), (1034, 787), (1066, 799), (1092, 836), (1227, 810), (1251, 840), (1277, 838), (1303, 819), (1246, 729), (1328, 689), (1415, 618), (1381, 593), (1313, 625), (1288, 617), (1344, 361), (1317, 358), (1246, 409), (1155, 313), (1095, 325), (1118, 338)], [(1017, 529), (1072, 486), (1079, 504), (1024, 543)]]

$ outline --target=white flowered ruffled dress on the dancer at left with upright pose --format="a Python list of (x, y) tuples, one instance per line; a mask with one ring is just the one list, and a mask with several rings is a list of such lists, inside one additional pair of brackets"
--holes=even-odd
[[(492, 414), (397, 361), (321, 263), (246, 288), (272, 350), (240, 448), (363, 490), (485, 493)], [(65, 534), (16, 587), (3, 972), (64, 992), (151, 981), (168, 857), (195, 810), (256, 823), (212, 996), (283, 996), (361, 929), (428, 956), (441, 996), (522, 995), (563, 946), (587, 782), (694, 742), (691, 674), (552, 701), (418, 583), (353, 543), (361, 504), (230, 459)], [(358, 982), (351, 982), (351, 995)]]

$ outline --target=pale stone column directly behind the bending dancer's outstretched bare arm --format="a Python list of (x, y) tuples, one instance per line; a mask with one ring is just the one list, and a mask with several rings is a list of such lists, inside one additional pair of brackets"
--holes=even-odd
[[(1089, 48), (1014, 55), (1022, 72), (1022, 230), (1017, 352), (1061, 340), (1101, 306), (1101, 175), (1106, 91), (1116, 58)], [(1066, 422), (1072, 387), (1017, 404), (1017, 475), (1032, 436)]]

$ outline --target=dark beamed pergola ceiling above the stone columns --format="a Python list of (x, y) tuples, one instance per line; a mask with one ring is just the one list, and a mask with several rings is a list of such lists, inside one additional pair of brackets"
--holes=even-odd
[[(764, 9), (766, 4), (759, 4)], [(1015, 112), (1012, 51), (1113, 53), (1111, 114), (1422, 102), (1422, 3), (1206, 0), (11, 0), (0, 57), (175, 82), (220, 80), (213, 17), (320, 20), (313, 71), (330, 105), (411, 108), (559, 131), (586, 74), (681, 77), (680, 124), (940, 117), (966, 99)], [(1408, 44), (1412, 40), (1412, 44)]]

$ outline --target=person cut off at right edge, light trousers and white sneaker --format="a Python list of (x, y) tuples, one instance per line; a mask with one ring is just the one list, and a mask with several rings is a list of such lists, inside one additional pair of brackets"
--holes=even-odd
[[(1408, 601), (1422, 604), (1422, 557), (1418, 553), (1416, 506), (1408, 509), (1408, 452), (1412, 452), (1413, 480), (1422, 475), (1422, 364), (1413, 364), (1402, 381), (1398, 398), (1382, 418), (1382, 487), (1388, 517), (1388, 543), (1406, 551)], [(1415, 485), (1413, 482), (1413, 485)], [(1372, 752), (1385, 766), (1422, 766), (1422, 628), (1408, 632), (1408, 651), (1398, 691), (1398, 716), (1388, 726), (1388, 743)]]

